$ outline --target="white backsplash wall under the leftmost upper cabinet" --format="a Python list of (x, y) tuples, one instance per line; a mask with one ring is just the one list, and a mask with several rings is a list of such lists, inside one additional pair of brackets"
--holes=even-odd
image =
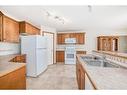
[(0, 56), (20, 53), (20, 44), (0, 42)]

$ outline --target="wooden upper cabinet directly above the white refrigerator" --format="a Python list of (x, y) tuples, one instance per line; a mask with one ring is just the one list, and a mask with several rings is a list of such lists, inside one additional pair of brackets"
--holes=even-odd
[(39, 35), (40, 29), (33, 26), (32, 24), (22, 21), (19, 23), (20, 33), (27, 33), (29, 35)]

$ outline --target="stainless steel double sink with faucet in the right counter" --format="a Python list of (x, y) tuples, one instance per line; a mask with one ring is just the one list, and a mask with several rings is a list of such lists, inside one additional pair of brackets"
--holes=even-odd
[(90, 65), (90, 66), (119, 68), (118, 65), (106, 60), (103, 57), (98, 57), (95, 55), (88, 55), (88, 56), (83, 56), (81, 58), (83, 59), (83, 61), (85, 61), (87, 65)]

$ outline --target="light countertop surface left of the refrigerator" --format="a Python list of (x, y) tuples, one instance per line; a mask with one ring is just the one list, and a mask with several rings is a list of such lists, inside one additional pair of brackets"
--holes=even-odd
[(0, 56), (0, 77), (25, 66), (25, 63), (9, 62), (16, 56), (18, 56), (18, 54)]

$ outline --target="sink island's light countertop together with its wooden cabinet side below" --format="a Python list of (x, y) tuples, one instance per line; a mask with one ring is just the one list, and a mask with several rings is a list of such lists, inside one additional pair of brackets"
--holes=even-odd
[[(127, 69), (88, 65), (77, 55), (76, 74), (79, 89), (125, 90)], [(117, 64), (118, 65), (118, 64)]]

